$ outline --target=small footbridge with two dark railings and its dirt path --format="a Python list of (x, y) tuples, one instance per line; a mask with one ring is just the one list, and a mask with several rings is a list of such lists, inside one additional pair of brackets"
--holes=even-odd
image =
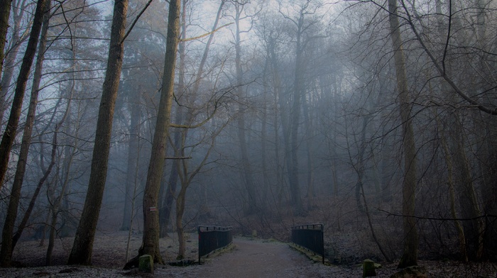
[[(199, 226), (197, 230), (201, 264), (182, 269), (181, 277), (330, 277), (330, 272), (333, 272), (333, 268), (309, 260), (301, 252), (290, 248), (288, 243), (233, 239), (231, 227)], [(324, 254), (322, 234), (322, 224), (292, 228), (293, 242), (319, 255)], [(229, 245), (231, 241), (234, 245)], [(214, 251), (226, 245), (234, 246), (234, 250)], [(223, 253), (206, 256), (209, 252)], [(178, 274), (178, 269), (175, 269), (175, 274)], [(176, 277), (175, 274), (169, 274), (168, 269), (158, 269), (155, 276)]]

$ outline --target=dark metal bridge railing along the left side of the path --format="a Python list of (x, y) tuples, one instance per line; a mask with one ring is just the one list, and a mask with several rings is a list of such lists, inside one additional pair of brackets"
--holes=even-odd
[(233, 228), (219, 226), (197, 226), (199, 233), (199, 264), (200, 257), (223, 248), (233, 241)]

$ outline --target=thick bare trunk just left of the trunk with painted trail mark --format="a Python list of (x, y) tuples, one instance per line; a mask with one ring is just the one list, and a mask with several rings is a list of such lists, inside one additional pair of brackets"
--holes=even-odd
[(114, 118), (114, 106), (123, 65), (124, 42), (122, 40), (126, 29), (127, 11), (128, 0), (116, 0), (114, 2), (109, 57), (107, 59), (107, 72), (97, 119), (92, 169), (80, 224), (77, 227), (75, 241), (67, 261), (69, 265), (92, 264), (93, 240), (107, 178), (112, 118)]

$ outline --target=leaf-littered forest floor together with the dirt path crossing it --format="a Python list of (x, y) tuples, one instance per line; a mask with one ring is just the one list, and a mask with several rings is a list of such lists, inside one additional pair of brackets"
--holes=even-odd
[[(13, 260), (23, 267), (0, 269), (0, 277), (151, 277), (136, 269), (123, 270), (126, 263), (127, 232), (99, 233), (95, 238), (93, 266), (67, 266), (74, 238), (62, 238), (55, 242), (53, 266), (44, 267), (46, 246), (39, 240), (18, 243)], [(46, 245), (47, 243), (45, 243)], [(129, 257), (137, 254), (141, 235), (131, 235)], [(187, 260), (197, 260), (197, 234), (187, 235)], [(309, 260), (293, 250), (288, 244), (276, 240), (235, 238), (235, 247), (209, 257), (202, 265), (172, 267), (155, 265), (154, 277), (361, 277), (361, 265), (322, 265)], [(166, 262), (175, 261), (178, 238), (160, 240), (160, 250)], [(497, 278), (497, 265), (452, 261), (420, 261), (427, 269), (428, 277), (487, 277)], [(396, 264), (385, 264), (377, 269), (377, 277), (390, 277), (397, 272)]]

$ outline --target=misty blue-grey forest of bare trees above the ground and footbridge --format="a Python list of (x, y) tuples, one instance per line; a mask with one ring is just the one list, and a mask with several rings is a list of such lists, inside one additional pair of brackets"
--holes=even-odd
[(496, 0), (0, 0), (0, 61), (1, 267), (305, 223), (337, 263), (497, 260)]

